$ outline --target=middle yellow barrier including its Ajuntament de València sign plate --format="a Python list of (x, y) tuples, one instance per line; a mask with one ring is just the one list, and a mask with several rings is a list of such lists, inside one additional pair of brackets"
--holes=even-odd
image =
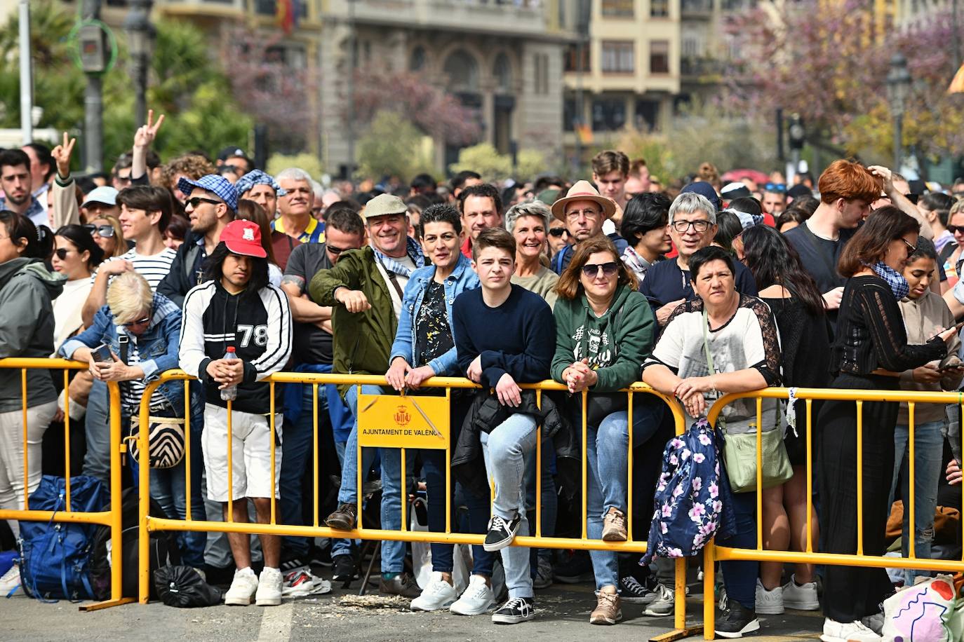
[[(141, 431), (140, 431), (140, 451), (149, 452), (148, 446), (148, 434), (147, 434), (147, 417), (148, 417), (148, 402), (153, 390), (160, 384), (173, 381), (173, 380), (184, 380), (185, 385), (187, 385), (187, 380), (192, 379), (185, 372), (181, 371), (169, 371), (161, 375), (161, 377), (155, 381), (152, 381), (147, 385), (147, 390), (145, 390), (144, 398), (141, 403)], [(236, 522), (201, 522), (193, 520), (191, 518), (191, 440), (188, 438), (185, 440), (185, 479), (186, 479), (186, 508), (185, 520), (174, 520), (174, 519), (161, 519), (148, 514), (149, 507), (149, 470), (147, 466), (140, 467), (140, 498), (141, 498), (141, 534), (140, 534), (140, 601), (142, 603), (147, 603), (148, 588), (149, 588), (149, 555), (148, 555), (148, 537), (150, 531), (155, 530), (173, 530), (173, 531), (203, 531), (203, 532), (242, 532), (242, 533), (259, 533), (259, 534), (269, 534), (269, 535), (295, 535), (295, 536), (306, 536), (306, 537), (331, 537), (331, 538), (353, 538), (362, 540), (394, 540), (394, 541), (406, 541), (406, 542), (425, 542), (425, 543), (447, 543), (447, 544), (472, 544), (481, 545), (485, 539), (483, 534), (469, 534), (469, 533), (454, 533), (451, 531), (451, 521), (450, 513), (445, 519), (445, 530), (444, 532), (425, 532), (419, 531), (414, 532), (409, 529), (407, 523), (407, 501), (405, 501), (406, 488), (406, 471), (405, 471), (405, 449), (444, 449), (446, 454), (450, 454), (451, 444), (449, 442), (449, 413), (448, 413), (448, 403), (450, 401), (450, 393), (453, 388), (479, 388), (477, 384), (472, 383), (469, 379), (456, 378), (456, 377), (434, 377), (427, 380), (422, 384), (423, 387), (436, 387), (444, 388), (444, 397), (417, 397), (413, 393), (411, 395), (402, 396), (368, 396), (362, 394), (362, 385), (377, 385), (377, 386), (387, 386), (384, 376), (376, 375), (344, 375), (344, 374), (321, 374), (321, 373), (308, 373), (308, 372), (278, 372), (264, 382), (264, 385), (271, 387), (271, 408), (270, 408), (270, 422), (272, 430), (275, 429), (275, 387), (278, 384), (289, 383), (289, 384), (307, 384), (313, 389), (314, 404), (313, 404), (313, 416), (314, 416), (314, 433), (313, 433), (313, 451), (318, 451), (318, 386), (324, 384), (352, 384), (359, 386), (359, 399), (358, 399), (358, 409), (360, 415), (360, 425), (359, 425), (359, 440), (358, 449), (359, 457), (358, 461), (362, 461), (362, 447), (364, 448), (400, 448), (401, 452), (401, 481), (402, 481), (402, 526), (400, 530), (386, 530), (377, 528), (367, 528), (362, 523), (362, 471), (359, 470), (358, 479), (358, 526), (354, 530), (333, 530), (327, 526), (322, 526), (321, 516), (318, 514), (318, 461), (317, 457), (314, 458), (314, 465), (312, 470), (312, 485), (314, 488), (314, 497), (312, 501), (313, 506), (313, 519), (311, 526), (296, 526), (296, 525), (282, 525), (278, 523), (277, 511), (276, 511), (276, 499), (275, 492), (271, 494), (271, 519), (269, 524), (255, 524), (255, 523), (236, 523)], [(549, 390), (566, 390), (565, 386), (554, 381), (543, 381), (538, 384), (526, 384), (522, 385), (523, 389), (536, 390), (537, 401), (541, 403), (542, 393)], [(676, 433), (683, 434), (685, 429), (683, 410), (681, 409), (679, 403), (674, 398), (669, 398), (659, 393), (649, 386), (637, 383), (626, 389), (626, 394), (629, 396), (629, 425), (632, 425), (632, 396), (635, 394), (648, 394), (661, 398), (669, 406), (671, 413), (674, 418)], [(580, 538), (563, 538), (563, 537), (544, 537), (542, 535), (542, 505), (541, 505), (541, 467), (542, 467), (542, 457), (534, 457), (536, 462), (536, 506), (535, 515), (537, 516), (534, 520), (535, 522), (535, 534), (531, 536), (519, 536), (514, 540), (514, 545), (526, 546), (526, 547), (537, 547), (537, 548), (554, 548), (554, 549), (576, 549), (576, 550), (608, 550), (614, 552), (645, 552), (646, 542), (634, 540), (632, 537), (632, 430), (629, 430), (629, 485), (628, 492), (629, 497), (627, 498), (627, 525), (628, 525), (628, 541), (612, 543), (603, 542), (602, 540), (590, 540), (586, 537), (586, 485), (587, 485), (587, 467), (586, 467), (586, 395), (582, 395), (582, 423), (581, 423), (581, 444), (582, 444), (582, 465), (581, 465), (581, 487), (582, 487), (582, 536)], [(185, 394), (185, 417), (187, 418), (187, 424), (185, 425), (185, 432), (190, 434), (190, 395)], [(228, 402), (228, 443), (231, 440), (231, 420), (230, 420), (230, 410), (231, 402)], [(430, 419), (429, 415), (435, 415), (435, 419)], [(367, 430), (364, 429), (365, 426), (384, 426), (384, 425), (399, 425), (404, 424), (404, 427), (399, 427), (393, 430)], [(658, 448), (662, 449), (662, 444), (658, 445)], [(226, 447), (228, 444), (226, 443)], [(275, 467), (280, 465), (280, 462), (276, 461), (275, 457), (275, 442), (272, 440), (271, 446), (271, 479), (272, 484), (274, 484), (275, 479)], [(542, 451), (542, 428), (540, 426), (537, 431), (537, 441), (536, 441), (536, 452)], [(232, 453), (231, 449), (228, 448), (228, 515), (233, 515), (233, 480), (232, 480)], [(451, 497), (451, 469), (446, 469), (447, 473), (445, 475), (445, 488), (448, 493), (448, 497)], [(273, 486), (274, 490), (274, 486)], [(699, 633), (699, 628), (686, 628), (686, 612), (685, 612), (685, 560), (680, 559), (676, 561), (676, 612), (675, 612), (675, 629), (665, 635), (660, 635), (658, 638), (661, 641), (668, 641), (674, 639), (680, 639), (689, 635)]]

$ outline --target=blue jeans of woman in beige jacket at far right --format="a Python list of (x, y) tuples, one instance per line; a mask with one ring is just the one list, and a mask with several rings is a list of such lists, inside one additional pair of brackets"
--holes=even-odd
[[(921, 559), (930, 558), (930, 545), (934, 541), (934, 510), (937, 508), (937, 486), (944, 472), (944, 434), (942, 428), (947, 420), (927, 422), (914, 426), (914, 554)], [(904, 501), (901, 541), (903, 556), (907, 556), (910, 541), (910, 432), (907, 424), (897, 424), (894, 430), (894, 481), (891, 498), (897, 495), (900, 480), (900, 497)], [(904, 584), (911, 586), (918, 576), (930, 577), (927, 571), (904, 569)]]

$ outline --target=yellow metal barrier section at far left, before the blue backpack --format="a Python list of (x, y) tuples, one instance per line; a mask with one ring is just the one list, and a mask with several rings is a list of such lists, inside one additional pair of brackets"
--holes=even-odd
[(108, 606), (134, 602), (133, 598), (122, 598), (121, 591), (121, 552), (123, 547), (120, 544), (120, 453), (124, 447), (120, 441), (120, 389), (116, 382), (107, 384), (110, 401), (110, 422), (111, 422), (111, 478), (110, 509), (95, 513), (86, 513), (71, 510), (70, 506), (70, 407), (69, 396), (65, 403), (64, 411), (64, 448), (65, 454), (65, 478), (66, 483), (66, 504), (65, 511), (31, 510), (30, 508), (30, 483), (29, 483), (29, 463), (27, 456), (27, 371), (28, 370), (54, 370), (63, 371), (64, 388), (67, 389), (71, 370), (87, 370), (88, 365), (77, 361), (67, 361), (66, 359), (39, 359), (39, 358), (17, 358), (0, 359), (0, 368), (20, 370), (20, 391), (23, 398), (23, 509), (4, 510), (0, 509), (0, 520), (17, 520), (26, 522), (65, 522), (74, 524), (99, 524), (109, 526), (111, 529), (111, 599), (104, 602), (84, 604), (80, 606), (82, 611), (93, 611)]

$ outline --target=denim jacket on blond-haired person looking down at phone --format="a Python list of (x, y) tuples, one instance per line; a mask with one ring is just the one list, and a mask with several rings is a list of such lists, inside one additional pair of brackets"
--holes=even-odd
[[(157, 379), (162, 372), (178, 367), (180, 321), (180, 308), (167, 296), (155, 294), (151, 303), (150, 323), (147, 330), (137, 337), (138, 353), (141, 356), (138, 365), (144, 370), (146, 384)], [(57, 353), (69, 359), (78, 347), (93, 348), (106, 344), (120, 356), (119, 334), (128, 333), (122, 325), (114, 322), (110, 307), (105, 305), (97, 310), (91, 326), (64, 342)], [(162, 384), (158, 392), (174, 406), (174, 416), (180, 417), (184, 412), (184, 383), (171, 381)]]

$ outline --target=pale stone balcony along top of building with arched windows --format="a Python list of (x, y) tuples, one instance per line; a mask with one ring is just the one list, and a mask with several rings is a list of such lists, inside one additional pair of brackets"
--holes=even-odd
[(350, 4), (363, 24), (508, 36), (546, 32), (541, 0), (330, 0), (328, 14), (344, 18)]

